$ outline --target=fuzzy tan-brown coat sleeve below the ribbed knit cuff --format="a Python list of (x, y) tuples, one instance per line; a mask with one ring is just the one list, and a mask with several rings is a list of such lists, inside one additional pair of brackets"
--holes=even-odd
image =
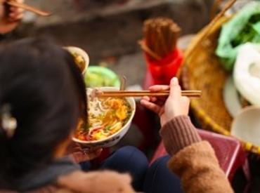
[(182, 149), (170, 159), (169, 168), (181, 178), (186, 193), (233, 192), (209, 142)]

